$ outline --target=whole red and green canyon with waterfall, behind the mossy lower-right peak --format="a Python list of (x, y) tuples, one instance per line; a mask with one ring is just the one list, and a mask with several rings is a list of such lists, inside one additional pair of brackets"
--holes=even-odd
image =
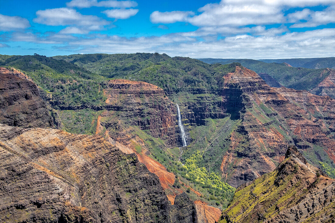
[[(164, 54), (25, 60), (31, 58), (47, 61), (43, 66), (64, 64), (65, 71), (51, 65), (24, 73), (0, 70), (6, 81), (0, 86), (0, 111), (8, 115), (0, 120), (6, 180), (1, 193), (10, 198), (1, 204), (1, 216), (19, 210), (27, 222), (214, 223), (233, 187), (239, 188), (227, 210), (236, 210), (232, 205), (241, 188), (280, 168), (292, 146), (302, 154), (296, 155), (300, 161), (334, 177), (335, 100), (321, 93), (332, 86), (331, 69), (315, 89), (318, 96), (282, 87), (239, 63), (209, 65)], [(15, 65), (14, 58), (7, 60)], [(101, 73), (94, 73), (96, 66)], [(13, 160), (26, 163), (20, 169)], [(31, 184), (36, 174), (43, 175), (43, 185)], [(31, 188), (13, 184), (18, 178)], [(29, 199), (41, 187), (58, 191)], [(27, 194), (15, 200), (19, 190)], [(235, 212), (223, 216), (228, 217), (222, 221), (240, 219)]]

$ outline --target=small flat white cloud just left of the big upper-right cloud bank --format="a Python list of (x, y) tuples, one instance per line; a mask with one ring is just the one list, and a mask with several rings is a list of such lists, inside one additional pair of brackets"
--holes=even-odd
[(194, 12), (190, 11), (172, 11), (172, 12), (159, 12), (154, 11), (150, 15), (150, 21), (152, 23), (175, 23), (185, 22), (189, 15), (193, 15)]

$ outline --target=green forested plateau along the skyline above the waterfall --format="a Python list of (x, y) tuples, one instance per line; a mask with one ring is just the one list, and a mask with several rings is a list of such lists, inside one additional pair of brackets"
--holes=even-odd
[(240, 64), (209, 65), (186, 57), (166, 54), (85, 54), (55, 56), (108, 78), (124, 78), (155, 84), (166, 93), (212, 92), (222, 83), (222, 74)]

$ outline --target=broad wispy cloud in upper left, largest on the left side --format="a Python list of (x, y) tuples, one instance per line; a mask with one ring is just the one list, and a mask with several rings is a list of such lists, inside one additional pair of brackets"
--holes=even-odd
[(34, 22), (46, 25), (76, 25), (84, 26), (86, 29), (96, 30), (110, 22), (101, 19), (95, 15), (82, 15), (70, 8), (54, 8), (39, 10), (36, 12), (37, 17)]

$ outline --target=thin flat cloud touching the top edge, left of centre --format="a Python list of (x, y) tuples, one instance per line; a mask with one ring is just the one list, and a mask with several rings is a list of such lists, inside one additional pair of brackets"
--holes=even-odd
[(77, 7), (77, 8), (90, 8), (92, 6), (96, 7), (106, 7), (106, 8), (132, 8), (136, 7), (138, 4), (135, 1), (116, 1), (116, 0), (107, 0), (107, 1), (97, 1), (97, 0), (72, 0), (67, 2), (68, 7)]

